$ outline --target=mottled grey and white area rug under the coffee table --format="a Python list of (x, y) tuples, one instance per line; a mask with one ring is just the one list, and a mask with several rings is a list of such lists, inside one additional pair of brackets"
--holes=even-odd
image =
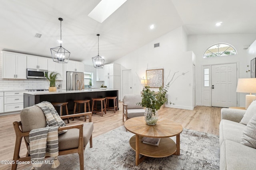
[[(124, 126), (93, 138), (93, 147), (89, 143), (84, 152), (86, 170), (218, 170), (219, 137), (208, 133), (183, 129), (180, 134), (180, 156), (165, 158), (147, 157), (138, 166), (135, 165), (135, 151), (129, 145), (134, 134), (126, 132)], [(172, 137), (176, 141), (176, 137)], [(77, 170), (78, 154), (58, 156), (60, 166), (56, 170)], [(52, 158), (48, 158), (51, 160)], [(44, 164), (38, 170), (51, 169)], [(30, 168), (27, 168), (28, 170)]]

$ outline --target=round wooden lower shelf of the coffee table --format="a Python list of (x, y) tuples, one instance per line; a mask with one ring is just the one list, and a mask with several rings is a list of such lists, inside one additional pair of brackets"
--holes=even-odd
[[(135, 142), (136, 135), (132, 136), (130, 139), (130, 146), (134, 151), (136, 151), (136, 142)], [(140, 136), (139, 142), (139, 153), (144, 156), (153, 157), (153, 158), (163, 158), (166, 156), (170, 156), (172, 154), (176, 154), (176, 143), (167, 138), (161, 138), (158, 146), (148, 145), (142, 143), (141, 139), (143, 137)], [(144, 160), (144, 158), (140, 158), (140, 162)]]

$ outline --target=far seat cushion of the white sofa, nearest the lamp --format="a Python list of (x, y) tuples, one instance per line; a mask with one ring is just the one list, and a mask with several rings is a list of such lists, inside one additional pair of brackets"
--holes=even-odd
[(234, 121), (222, 119), (220, 121), (220, 146), (226, 139), (237, 143), (242, 142), (243, 131), (246, 125)]

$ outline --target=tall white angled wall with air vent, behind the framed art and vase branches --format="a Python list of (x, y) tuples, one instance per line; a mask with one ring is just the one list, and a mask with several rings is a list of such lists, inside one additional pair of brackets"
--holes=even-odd
[[(160, 47), (154, 48), (154, 43), (160, 43)], [(114, 63), (121, 64), (122, 70), (132, 70), (133, 94), (140, 94), (142, 91), (140, 79), (146, 78), (146, 70), (164, 68), (165, 79), (170, 71), (168, 80), (176, 71), (179, 71), (176, 76), (181, 75), (182, 72), (188, 72), (175, 80), (170, 86), (168, 94), (169, 101), (175, 103), (170, 107), (193, 109), (192, 86), (189, 84), (192, 84), (192, 55), (194, 54), (191, 51), (185, 52), (186, 50), (186, 33), (182, 27), (178, 27)]]

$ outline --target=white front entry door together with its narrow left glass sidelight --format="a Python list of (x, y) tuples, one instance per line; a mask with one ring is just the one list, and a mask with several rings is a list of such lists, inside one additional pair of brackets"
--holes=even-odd
[(203, 66), (202, 105), (237, 106), (237, 63)]

